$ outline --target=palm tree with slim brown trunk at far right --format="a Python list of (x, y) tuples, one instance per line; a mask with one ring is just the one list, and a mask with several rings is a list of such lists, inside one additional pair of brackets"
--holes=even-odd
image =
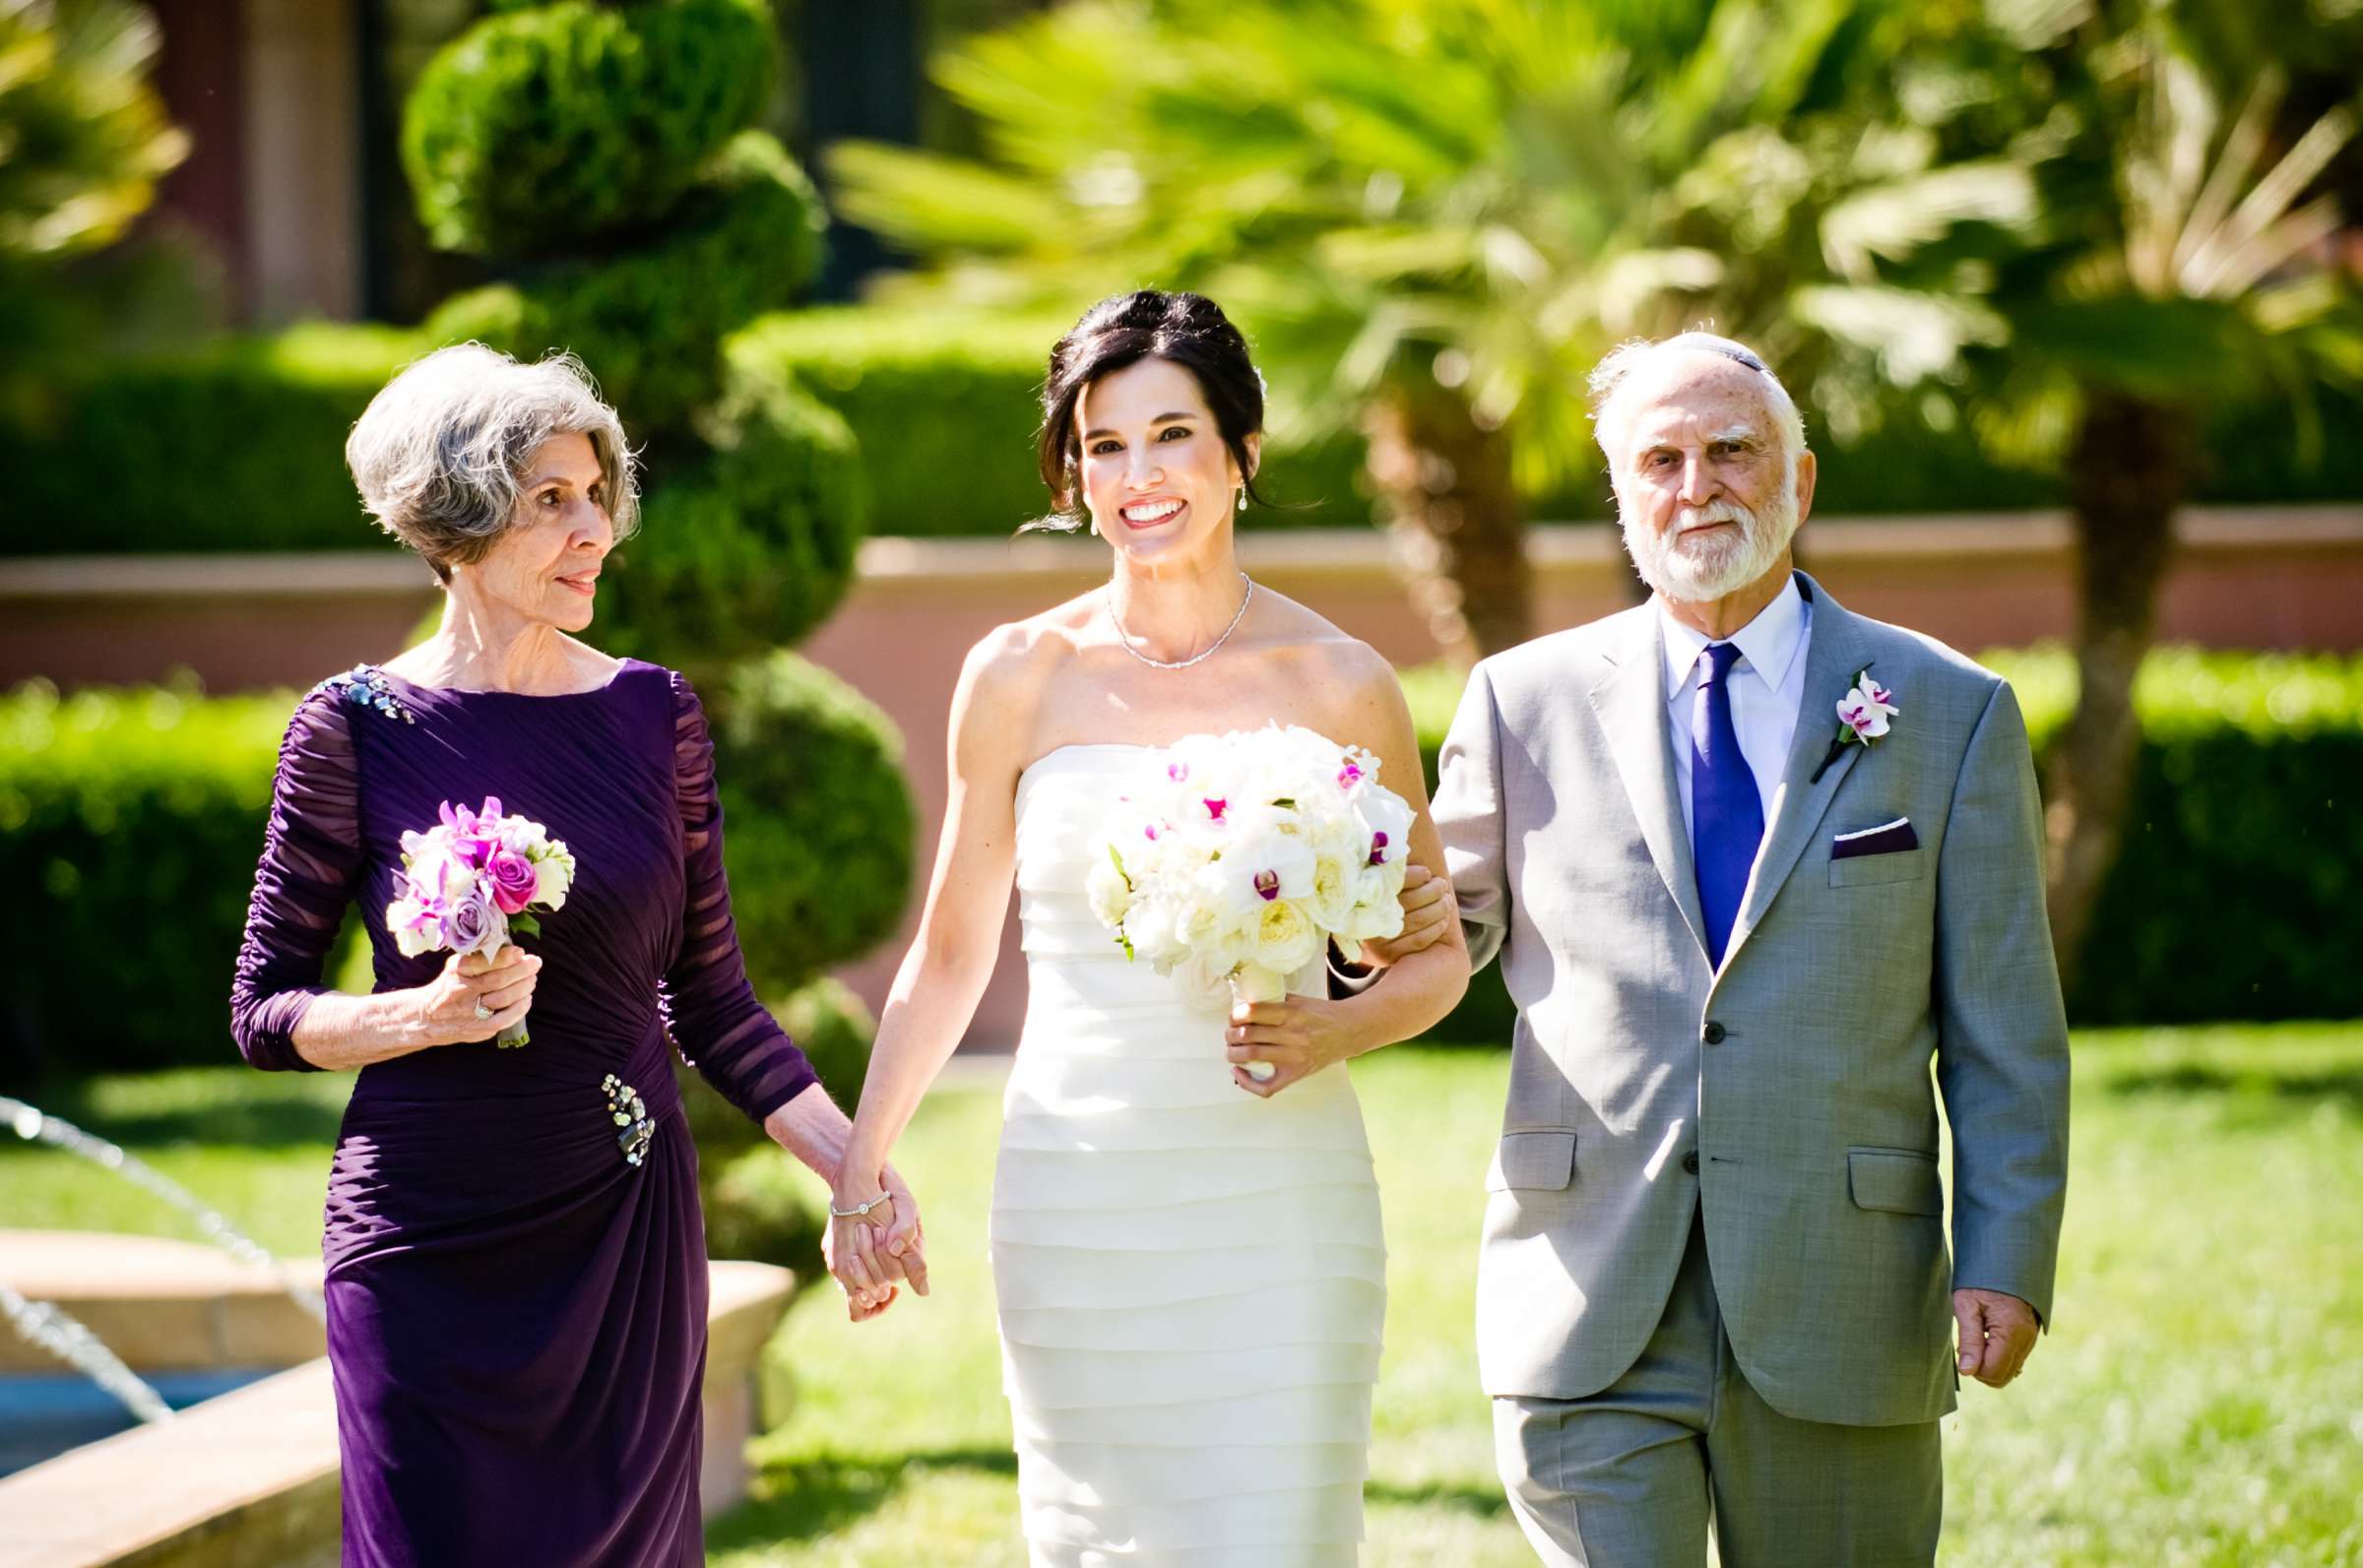
[(1997, 269), (2006, 347), (1968, 357), (1983, 432), (2016, 458), (2058, 460), (2075, 517), (2079, 697), (2046, 791), (2070, 978), (2122, 836), (2134, 675), (2207, 413), (2278, 397), (2304, 425), (2318, 380), (2363, 380), (2363, 319), (2330, 264), (2349, 220), (2325, 187), (2354, 106), (2287, 113), (2287, 76), (2257, 45), (2325, 35), (2257, 26), (2242, 40), (2216, 9), (2122, 0), (2056, 7), (2046, 24), (2035, 7), (2020, 43), (2039, 104), (2027, 135), (2053, 142), (2046, 234)]

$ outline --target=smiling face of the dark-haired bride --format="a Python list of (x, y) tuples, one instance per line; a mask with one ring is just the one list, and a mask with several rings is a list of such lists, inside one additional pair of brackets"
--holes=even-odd
[(1174, 361), (1139, 359), (1087, 385), (1075, 437), (1082, 505), (1125, 555), (1170, 557), (1231, 524), (1243, 475), (1198, 378)]

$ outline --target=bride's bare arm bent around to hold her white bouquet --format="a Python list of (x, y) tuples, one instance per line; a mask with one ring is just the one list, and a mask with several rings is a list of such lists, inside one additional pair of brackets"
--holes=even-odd
[[(1427, 815), (1420, 741), (1404, 704), (1404, 687), (1373, 649), (1354, 645), (1352, 668), (1335, 682), (1340, 699), (1326, 730), (1330, 739), (1366, 746), (1380, 760), (1380, 784), (1411, 803), (1411, 860), (1441, 876), (1444, 838)], [(1248, 1093), (1274, 1096), (1330, 1063), (1363, 1056), (1434, 1027), (1470, 985), (1470, 949), (1460, 921), (1434, 945), (1397, 959), (1385, 985), (1356, 997), (1290, 997), (1231, 1011), (1231, 1077)], [(1264, 1060), (1274, 1077), (1255, 1079), (1245, 1065)]]

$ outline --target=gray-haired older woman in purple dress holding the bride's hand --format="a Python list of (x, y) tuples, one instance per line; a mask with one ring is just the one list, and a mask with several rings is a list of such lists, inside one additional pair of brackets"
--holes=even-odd
[[(468, 345), (378, 392), (345, 458), (444, 621), (295, 708), (232, 1004), (255, 1067), (359, 1070), (324, 1242), (345, 1563), (702, 1563), (666, 1034), (822, 1176), (846, 1117), (747, 985), (695, 692), (574, 638), (636, 522), (631, 449), (577, 361)], [(574, 888), (529, 954), (404, 956), (402, 834), (484, 796), (572, 845)], [(354, 900), (369, 997), (321, 987)]]

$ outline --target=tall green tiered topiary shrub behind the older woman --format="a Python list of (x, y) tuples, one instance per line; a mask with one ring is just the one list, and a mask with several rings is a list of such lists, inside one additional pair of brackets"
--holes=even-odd
[[(572, 349), (647, 442), (643, 527), (593, 635), (697, 682), (747, 971), (759, 994), (789, 997), (893, 933), (914, 808), (893, 725), (780, 652), (853, 581), (867, 494), (844, 418), (733, 338), (806, 288), (827, 222), (751, 128), (770, 68), (763, 0), (510, 5), (421, 78), (406, 156), (428, 231), (510, 269), (447, 302), (430, 335)], [(815, 1051), (865, 1051), (841, 1006), (792, 1006), (811, 1011)], [(716, 1155), (747, 1136), (704, 1131)], [(792, 1202), (766, 1209), (766, 1159), (707, 1162), (756, 1183), (709, 1193), (718, 1249), (777, 1256), (747, 1235), (803, 1223)], [(754, 1230), (733, 1240), (740, 1221)]]

